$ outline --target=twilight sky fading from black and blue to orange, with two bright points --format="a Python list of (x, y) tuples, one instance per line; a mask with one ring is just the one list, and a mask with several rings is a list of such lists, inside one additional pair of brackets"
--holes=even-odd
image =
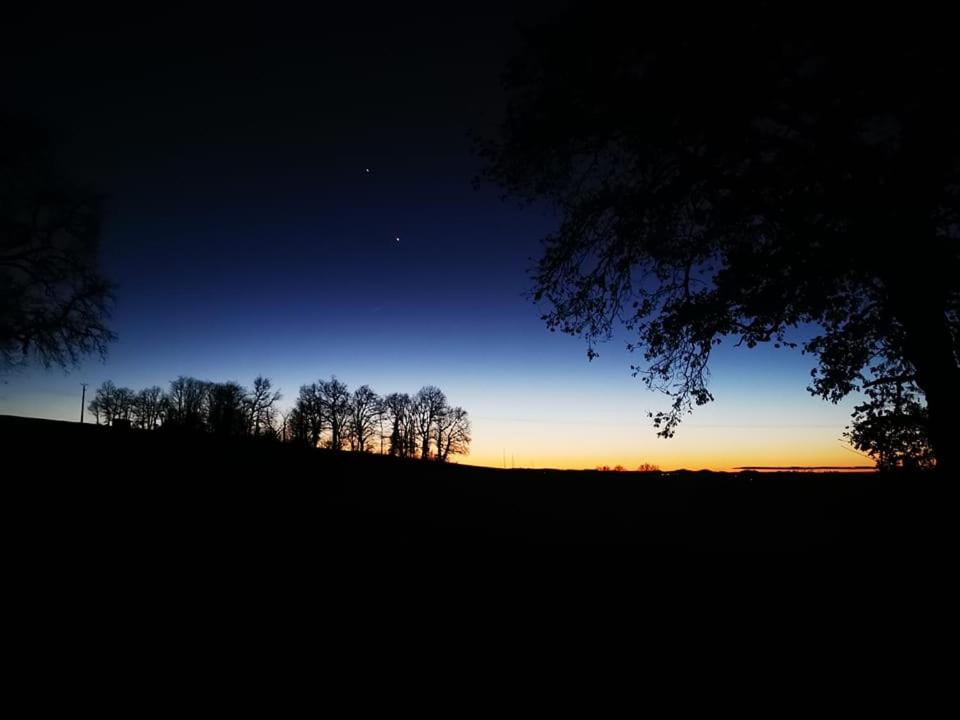
[(476, 187), (471, 137), (499, 115), (517, 21), (551, 7), (18, 11), (0, 100), (107, 197), (118, 340), (3, 377), (0, 413), (76, 420), (83, 382), (178, 375), (263, 374), (288, 406), (336, 375), (439, 386), (479, 465), (869, 464), (841, 439), (855, 398), (806, 392), (809, 356), (722, 346), (716, 402), (663, 440), (647, 413), (668, 400), (631, 376), (626, 336), (588, 362), (539, 319), (528, 270), (555, 216)]

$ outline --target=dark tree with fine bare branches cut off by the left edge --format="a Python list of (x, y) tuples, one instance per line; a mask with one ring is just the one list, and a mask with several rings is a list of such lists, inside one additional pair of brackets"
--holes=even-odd
[(58, 177), (39, 133), (0, 113), (0, 369), (106, 353), (99, 199)]

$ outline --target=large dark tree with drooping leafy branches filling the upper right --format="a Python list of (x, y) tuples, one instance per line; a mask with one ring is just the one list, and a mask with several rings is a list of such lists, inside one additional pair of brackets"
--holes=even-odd
[[(712, 400), (730, 337), (818, 360), (836, 401), (904, 364), (938, 466), (957, 466), (960, 123), (946, 18), (829, 22), (774, 4), (574, 9), (526, 32), (484, 177), (560, 211), (534, 273), (588, 356), (621, 323), (663, 436)], [(919, 13), (918, 13), (919, 14)]]

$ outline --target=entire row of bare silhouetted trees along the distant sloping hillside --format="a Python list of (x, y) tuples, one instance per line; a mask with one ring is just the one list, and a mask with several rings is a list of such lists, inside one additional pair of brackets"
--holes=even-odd
[(440, 462), (469, 451), (467, 411), (451, 407), (443, 391), (432, 385), (413, 396), (382, 397), (368, 385), (351, 392), (331, 377), (302, 386), (289, 411), (278, 406), (281, 398), (262, 375), (254, 379), (252, 389), (236, 382), (181, 376), (166, 391), (159, 386), (134, 391), (108, 380), (97, 389), (87, 411), (103, 425), (259, 437)]

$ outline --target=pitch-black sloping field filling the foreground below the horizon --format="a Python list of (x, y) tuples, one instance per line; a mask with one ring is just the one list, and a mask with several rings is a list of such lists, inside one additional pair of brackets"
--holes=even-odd
[[(438, 467), (9, 417), (0, 450), (8, 684), (33, 707), (502, 712), (525, 687), (593, 710), (665, 682), (916, 710), (949, 687), (938, 478)], [(869, 663), (896, 678), (851, 685)]]

